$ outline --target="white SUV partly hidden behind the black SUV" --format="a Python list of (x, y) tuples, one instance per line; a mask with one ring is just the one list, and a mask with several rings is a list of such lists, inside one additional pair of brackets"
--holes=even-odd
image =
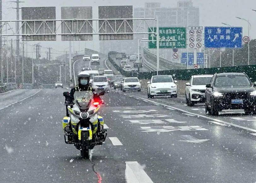
[(209, 84), (212, 75), (192, 75), (189, 83), (186, 83), (186, 103), (194, 106), (195, 103), (205, 102), (206, 84)]

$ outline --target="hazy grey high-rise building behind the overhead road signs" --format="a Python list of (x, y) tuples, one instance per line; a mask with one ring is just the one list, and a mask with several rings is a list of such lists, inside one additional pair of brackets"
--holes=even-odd
[[(156, 18), (158, 17), (161, 27), (187, 27), (199, 26), (199, 8), (194, 7), (192, 0), (180, 0), (177, 7), (161, 7), (161, 3), (145, 3), (143, 8), (133, 8), (133, 18)], [(154, 20), (147, 20), (150, 26), (156, 26)], [(134, 21), (133, 29), (137, 31), (148, 31), (146, 23)], [(103, 53), (108, 51), (120, 51), (126, 53), (137, 53), (137, 40), (147, 38), (147, 35), (134, 35), (133, 40), (101, 41), (100, 50)], [(141, 43), (147, 46), (147, 43)], [(154, 50), (152, 50), (154, 52)], [(160, 50), (161, 57), (172, 60), (172, 50)], [(177, 61), (174, 59), (173, 61)]]

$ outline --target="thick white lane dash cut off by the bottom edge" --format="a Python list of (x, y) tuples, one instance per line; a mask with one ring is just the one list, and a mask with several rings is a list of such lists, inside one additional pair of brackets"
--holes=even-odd
[(125, 162), (125, 181), (126, 183), (153, 183), (150, 177), (143, 170), (137, 161)]

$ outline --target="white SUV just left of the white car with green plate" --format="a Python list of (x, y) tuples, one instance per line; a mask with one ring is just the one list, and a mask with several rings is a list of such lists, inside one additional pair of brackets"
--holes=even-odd
[(123, 92), (125, 91), (131, 91), (131, 90), (137, 90), (137, 91), (141, 91), (141, 84), (140, 82), (142, 81), (139, 81), (138, 78), (124, 78), (122, 81), (121, 81), (121, 90)]

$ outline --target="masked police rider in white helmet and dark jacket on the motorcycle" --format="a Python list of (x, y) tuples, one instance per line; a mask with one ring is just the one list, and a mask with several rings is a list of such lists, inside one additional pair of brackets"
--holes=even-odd
[[(92, 91), (93, 99), (95, 101), (103, 103), (103, 101), (100, 98), (100, 95), (102, 95), (102, 92), (100, 94), (97, 94), (95, 92), (95, 90), (89, 86), (89, 82), (90, 82), (90, 75), (79, 74), (78, 75), (78, 85), (71, 88), (70, 93), (63, 92), (63, 96), (65, 96), (65, 98), (66, 98), (65, 103), (68, 103), (68, 104), (73, 103), (75, 91)], [(104, 92), (103, 92), (103, 94), (104, 94)]]

